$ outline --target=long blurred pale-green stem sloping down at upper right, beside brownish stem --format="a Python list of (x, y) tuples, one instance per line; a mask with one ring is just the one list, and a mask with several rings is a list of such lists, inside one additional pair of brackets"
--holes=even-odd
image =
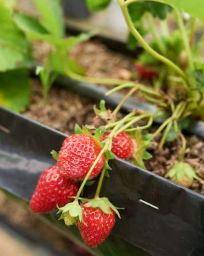
[(177, 8), (174, 8), (175, 10), (175, 15), (176, 15), (176, 19), (178, 22), (178, 26), (183, 38), (183, 42), (184, 42), (184, 46), (186, 49), (186, 53), (187, 53), (187, 57), (188, 57), (188, 63), (189, 63), (189, 67), (191, 68), (191, 70), (194, 70), (194, 65), (193, 65), (193, 57), (192, 57), (192, 53), (191, 53), (191, 47), (189, 45), (189, 41), (188, 41), (188, 36), (186, 34), (186, 30), (185, 30), (185, 26), (181, 17), (181, 13)]

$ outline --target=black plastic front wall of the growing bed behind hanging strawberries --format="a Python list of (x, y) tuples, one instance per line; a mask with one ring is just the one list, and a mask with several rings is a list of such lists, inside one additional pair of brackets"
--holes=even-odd
[[(40, 173), (53, 164), (49, 152), (59, 150), (66, 135), (4, 108), (0, 116), (0, 186), (29, 201)], [(152, 255), (203, 255), (202, 195), (118, 158), (111, 167), (103, 196), (125, 210), (95, 252), (107, 255), (111, 247), (108, 255), (146, 255), (140, 247)], [(92, 191), (86, 188), (84, 195), (90, 197)], [(75, 228), (66, 230), (77, 236)]]

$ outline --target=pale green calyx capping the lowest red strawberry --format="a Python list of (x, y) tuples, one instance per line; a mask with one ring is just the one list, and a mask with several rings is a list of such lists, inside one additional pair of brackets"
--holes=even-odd
[[(93, 208), (100, 208), (103, 212), (106, 214), (112, 214), (111, 209), (117, 214), (117, 216), (120, 218), (120, 213), (118, 209), (124, 209), (124, 208), (118, 208), (111, 204), (111, 202), (106, 197), (101, 198), (94, 198), (94, 199), (87, 199), (87, 198), (80, 198), (82, 202), (84, 202), (83, 207), (93, 207)], [(110, 209), (111, 208), (111, 209)]]

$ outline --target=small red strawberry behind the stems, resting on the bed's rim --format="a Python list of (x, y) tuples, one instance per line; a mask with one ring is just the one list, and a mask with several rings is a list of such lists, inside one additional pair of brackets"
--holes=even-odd
[[(110, 132), (104, 132), (101, 141), (104, 141)], [(134, 143), (127, 132), (121, 132), (112, 140), (111, 151), (122, 159), (133, 156)]]

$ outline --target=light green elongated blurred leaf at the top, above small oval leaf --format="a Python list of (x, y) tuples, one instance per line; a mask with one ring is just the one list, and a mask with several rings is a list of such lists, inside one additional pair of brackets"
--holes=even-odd
[(33, 0), (43, 26), (55, 37), (64, 37), (64, 20), (59, 0)]

